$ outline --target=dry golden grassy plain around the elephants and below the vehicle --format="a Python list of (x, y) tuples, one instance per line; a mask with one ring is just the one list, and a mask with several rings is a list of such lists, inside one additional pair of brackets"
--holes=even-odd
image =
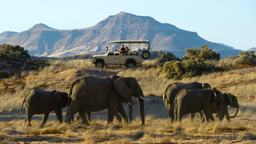
[[(233, 60), (224, 59), (210, 61), (216, 67), (228, 67)], [(215, 71), (204, 73), (202, 76), (186, 77), (181, 80), (166, 79), (154, 60), (145, 60), (135, 68), (126, 69), (125, 66), (106, 66), (103, 70), (96, 70), (88, 60), (51, 61), (49, 67), (36, 71), (14, 75), (0, 82), (0, 141), (1, 142), (84, 142), (84, 143), (252, 143), (256, 140), (256, 71), (236, 73), (233, 71)], [(251, 68), (238, 66), (238, 68)], [(252, 67), (255, 68), (255, 67)], [(141, 89), (150, 101), (145, 101), (146, 124), (141, 126), (138, 102), (134, 101), (133, 122), (107, 125), (107, 110), (92, 115), (90, 126), (81, 122), (75, 124), (58, 124), (54, 113), (44, 128), (39, 129), (41, 117), (32, 120), (32, 127), (22, 124), (23, 119), (4, 119), (6, 113), (11, 117), (17, 115), (26, 92), (34, 88), (68, 92), (69, 85), (82, 76), (132, 76), (135, 77)], [(165, 88), (175, 82), (207, 82), (221, 92), (235, 95), (239, 103), (239, 112), (228, 123), (218, 120), (200, 124), (198, 116), (190, 122), (184, 116), (182, 124), (169, 124), (169, 116), (164, 109), (162, 94)], [(8, 88), (6, 88), (6, 86)], [(124, 105), (125, 111), (128, 108)], [(22, 109), (21, 117), (25, 116)], [(229, 108), (230, 115), (235, 109)], [(65, 109), (63, 109), (63, 115)], [(0, 115), (1, 115), (0, 114)], [(94, 117), (93, 117), (94, 116)], [(19, 116), (16, 116), (19, 117)], [(98, 119), (97, 119), (98, 118)], [(64, 118), (65, 119), (65, 118)]]

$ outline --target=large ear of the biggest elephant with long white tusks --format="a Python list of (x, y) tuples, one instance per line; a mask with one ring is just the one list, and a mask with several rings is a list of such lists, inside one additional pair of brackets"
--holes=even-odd
[(130, 89), (130, 86), (127, 82), (126, 77), (118, 78), (114, 82), (114, 87), (116, 89), (116, 92), (119, 95), (121, 95), (124, 99), (126, 99), (126, 100), (131, 100), (132, 99), (132, 92), (131, 92), (131, 89)]

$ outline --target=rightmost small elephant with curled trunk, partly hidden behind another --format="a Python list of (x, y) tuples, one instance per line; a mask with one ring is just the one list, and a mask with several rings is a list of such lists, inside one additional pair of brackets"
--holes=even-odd
[[(211, 88), (209, 88), (210, 90), (212, 90)], [(238, 105), (238, 100), (236, 98), (236, 96), (225, 92), (222, 93), (223, 96), (223, 102), (224, 102), (224, 111), (223, 111), (223, 117), (221, 117), (221, 119), (224, 118), (224, 116), (226, 117), (227, 121), (230, 122), (230, 118), (234, 118), (236, 117), (237, 113), (238, 113), (238, 109), (239, 109), (239, 105)], [(236, 112), (234, 116), (229, 116), (228, 114), (228, 105), (231, 106), (232, 108), (236, 108)], [(216, 114), (215, 116), (218, 117), (219, 113), (220, 113), (221, 107), (218, 105), (213, 105), (212, 107), (212, 113)], [(200, 117), (203, 115), (202, 112), (199, 112)], [(194, 114), (190, 114), (190, 120), (194, 119)], [(205, 119), (203, 118), (202, 121), (205, 121)]]

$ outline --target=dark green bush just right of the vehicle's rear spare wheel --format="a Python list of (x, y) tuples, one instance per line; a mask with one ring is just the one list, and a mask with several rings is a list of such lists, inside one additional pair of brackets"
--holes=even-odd
[(162, 50), (158, 51), (158, 58), (156, 58), (157, 63), (160, 66), (164, 66), (164, 63), (172, 60), (179, 60), (179, 57), (175, 57), (172, 52), (163, 52)]

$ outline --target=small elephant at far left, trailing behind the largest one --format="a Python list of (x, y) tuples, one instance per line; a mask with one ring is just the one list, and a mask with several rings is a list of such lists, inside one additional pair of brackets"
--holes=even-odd
[[(62, 110), (61, 108), (65, 108), (68, 105), (68, 93), (66, 92), (58, 92), (58, 91), (43, 91), (40, 89), (33, 89), (29, 91), (22, 103), (25, 103), (27, 117), (25, 118), (24, 123), (28, 126), (31, 126), (31, 117), (35, 114), (43, 115), (42, 127), (49, 116), (49, 113), (54, 110), (57, 115), (59, 123), (62, 123)], [(20, 110), (21, 110), (20, 108)]]

